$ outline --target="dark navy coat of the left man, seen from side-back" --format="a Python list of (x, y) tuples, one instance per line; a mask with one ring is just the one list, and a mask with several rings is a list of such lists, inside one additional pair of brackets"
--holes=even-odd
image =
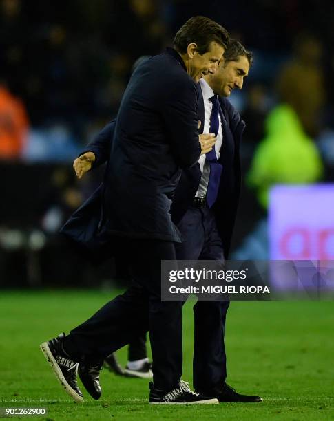
[(87, 148), (96, 165), (108, 162), (103, 184), (61, 232), (92, 249), (115, 235), (180, 242), (169, 210), (181, 170), (200, 157), (197, 108), (176, 50), (138, 65), (116, 120)]

